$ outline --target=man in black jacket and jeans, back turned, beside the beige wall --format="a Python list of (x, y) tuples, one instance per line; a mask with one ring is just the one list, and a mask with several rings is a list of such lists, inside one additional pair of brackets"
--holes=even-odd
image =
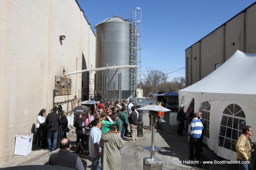
[[(57, 114), (57, 110), (58, 108), (54, 107), (53, 112), (49, 113), (45, 119), (45, 123), (48, 128), (48, 133), (47, 133), (48, 149), (46, 149), (45, 151), (55, 152), (56, 150), (57, 136), (58, 136), (59, 126), (61, 124), (60, 116), (59, 114)], [(52, 134), (53, 134), (53, 142), (51, 142)]]

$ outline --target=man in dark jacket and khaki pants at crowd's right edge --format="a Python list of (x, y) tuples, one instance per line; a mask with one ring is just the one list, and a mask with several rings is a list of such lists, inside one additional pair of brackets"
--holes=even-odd
[(131, 107), (131, 115), (129, 117), (130, 122), (130, 131), (132, 134), (132, 140), (129, 140), (129, 142), (135, 142), (137, 140), (137, 125), (138, 125), (138, 115), (135, 112), (135, 106)]

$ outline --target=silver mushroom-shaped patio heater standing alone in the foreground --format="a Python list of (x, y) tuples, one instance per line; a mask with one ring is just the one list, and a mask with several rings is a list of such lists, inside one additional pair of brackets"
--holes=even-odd
[[(143, 158), (143, 170), (162, 170), (161, 159), (158, 159), (157, 157), (154, 156), (156, 151), (162, 150), (162, 148), (154, 146), (154, 140), (155, 140), (154, 139), (154, 133), (155, 133), (154, 119), (158, 115), (158, 112), (169, 112), (171, 110), (166, 109), (160, 105), (146, 105), (144, 107), (138, 108), (137, 110), (148, 110), (148, 113), (152, 115), (151, 146), (144, 147), (144, 149), (150, 152), (150, 157)], [(153, 161), (154, 164), (147, 163), (148, 161)]]

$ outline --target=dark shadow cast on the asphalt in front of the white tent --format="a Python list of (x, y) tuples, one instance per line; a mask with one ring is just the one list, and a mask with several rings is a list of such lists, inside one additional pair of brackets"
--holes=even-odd
[[(148, 119), (148, 117), (144, 114), (145, 118)], [(178, 126), (172, 126), (170, 125), (170, 119), (169, 119), (170, 113), (165, 113), (163, 117), (163, 130), (156, 129), (155, 136), (158, 133), (161, 138), (169, 145), (169, 147), (161, 147), (159, 146), (158, 140), (161, 138), (155, 138), (155, 146), (161, 147), (163, 150), (157, 151), (158, 154), (165, 155), (166, 157), (174, 157), (178, 158), (178, 160), (182, 161), (189, 157), (189, 144), (188, 144), (188, 127), (184, 128), (183, 134), (184, 136), (177, 136), (177, 129)], [(148, 126), (146, 126), (146, 129), (148, 129)], [(144, 127), (143, 127), (144, 128)], [(202, 169), (212, 170), (212, 169), (218, 169), (218, 170), (236, 170), (238, 169), (236, 164), (203, 164), (203, 161), (223, 161), (226, 159), (223, 159), (221, 157), (218, 157), (206, 144), (203, 144), (202, 146), (203, 152), (201, 153), (201, 159), (199, 164), (189, 164), (189, 166), (198, 167)], [(170, 158), (172, 159), (172, 158)], [(188, 164), (184, 164), (188, 165)]]

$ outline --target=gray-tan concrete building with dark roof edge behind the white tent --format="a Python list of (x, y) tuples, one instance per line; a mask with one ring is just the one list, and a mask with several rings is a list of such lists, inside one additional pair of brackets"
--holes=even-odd
[(186, 86), (195, 84), (237, 50), (256, 53), (256, 2), (185, 50)]

